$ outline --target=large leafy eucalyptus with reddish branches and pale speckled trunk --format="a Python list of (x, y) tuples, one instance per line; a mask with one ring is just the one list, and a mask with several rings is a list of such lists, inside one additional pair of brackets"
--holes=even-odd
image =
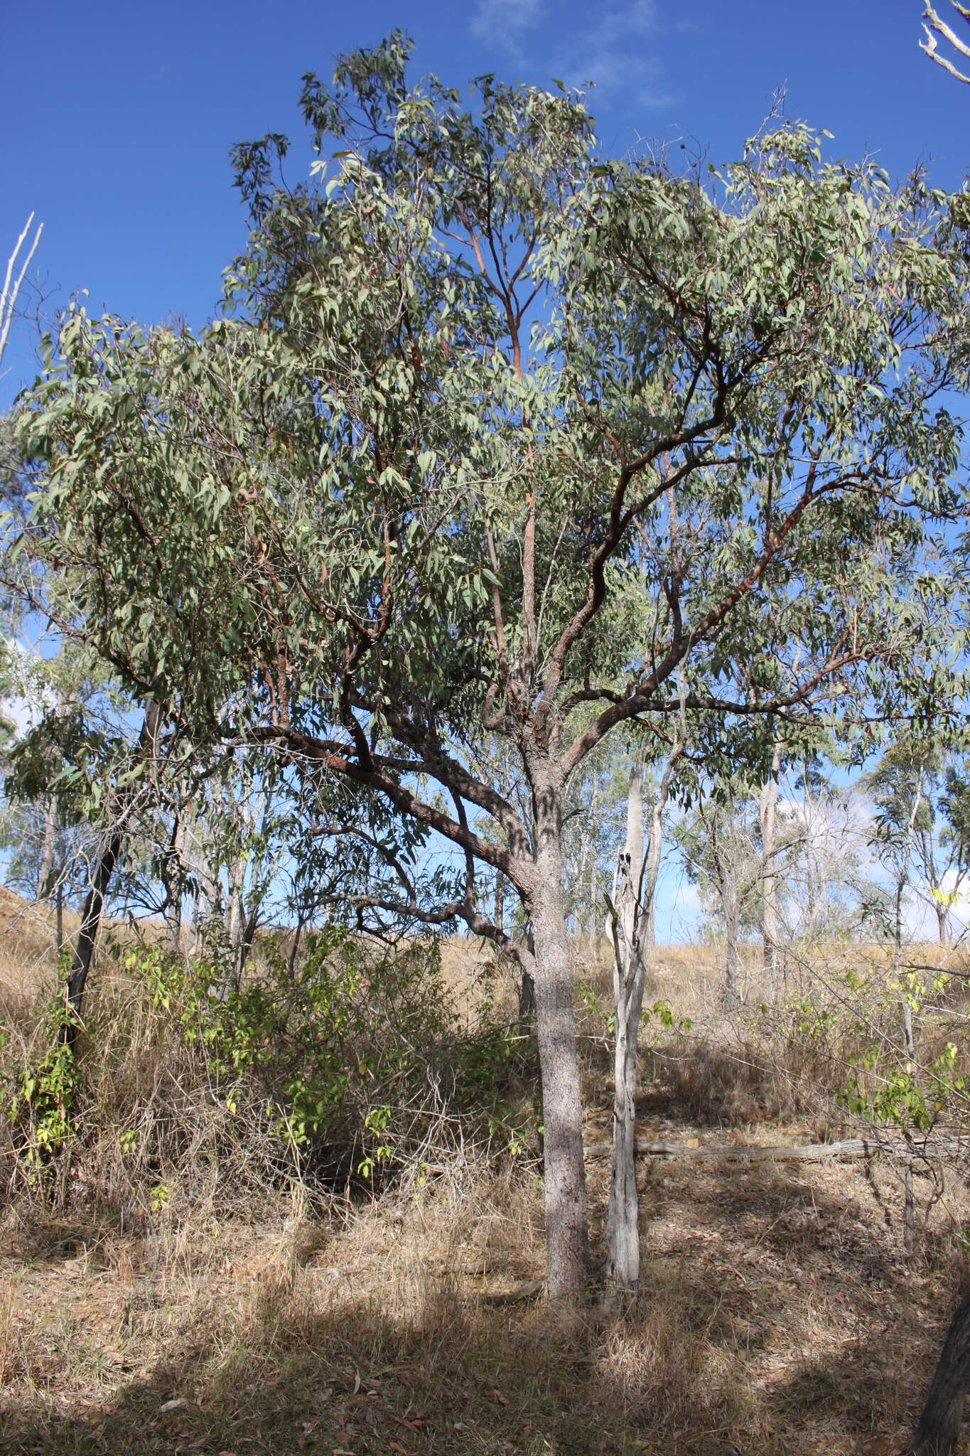
[[(955, 508), (964, 204), (825, 163), (803, 127), (708, 176), (609, 160), (580, 96), (481, 77), (464, 103), (406, 54), (305, 79), (305, 182), (281, 137), (237, 150), (227, 316), (64, 319), (25, 400), (23, 539), (83, 574), (79, 628), (196, 741), (343, 778), (457, 849), (460, 882), (425, 890), (388, 850), (378, 911), (505, 943), (478, 878), (519, 895), (564, 1293), (588, 1268), (570, 780), (643, 715), (768, 745), (832, 684), (937, 706), (944, 664), (912, 658), (947, 600), (921, 562)], [(525, 812), (474, 770), (487, 735)]]

